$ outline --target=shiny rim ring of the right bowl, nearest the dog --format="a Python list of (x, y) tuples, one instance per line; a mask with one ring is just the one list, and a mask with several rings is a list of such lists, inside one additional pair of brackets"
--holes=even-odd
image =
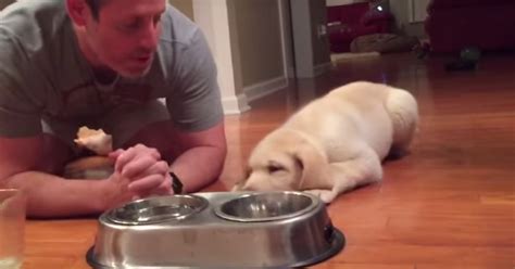
[[(237, 201), (241, 198), (248, 198), (252, 196), (261, 196), (261, 195), (271, 195), (271, 194), (287, 194), (287, 195), (297, 195), (297, 196), (304, 196), (310, 198), (311, 203), (309, 206), (290, 213), (290, 214), (285, 214), (280, 216), (274, 216), (274, 217), (260, 217), (260, 218), (244, 218), (244, 217), (237, 217), (234, 215), (226, 214), (222, 210), (223, 206)], [(304, 215), (313, 209), (315, 209), (317, 206), (319, 206), (321, 201), (317, 196), (311, 194), (311, 193), (305, 193), (305, 192), (299, 192), (299, 191), (268, 191), (268, 192), (250, 192), (250, 193), (244, 193), (241, 195), (238, 195), (236, 197), (233, 197), (230, 200), (224, 201), (223, 203), (216, 205), (214, 207), (214, 213), (217, 217), (229, 220), (229, 221), (237, 221), (237, 222), (265, 222), (265, 221), (276, 221), (276, 220), (284, 220), (284, 219), (291, 219), (301, 215)]]

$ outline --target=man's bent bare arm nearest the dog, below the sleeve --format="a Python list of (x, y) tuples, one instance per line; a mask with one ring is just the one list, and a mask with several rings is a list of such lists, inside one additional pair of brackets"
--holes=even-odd
[[(185, 192), (196, 192), (216, 180), (227, 154), (224, 121), (197, 132), (175, 130), (183, 153), (171, 165)], [(175, 142), (175, 141), (174, 141)]]

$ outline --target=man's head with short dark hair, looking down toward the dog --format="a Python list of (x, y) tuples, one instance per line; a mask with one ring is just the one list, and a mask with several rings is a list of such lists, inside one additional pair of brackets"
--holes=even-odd
[(140, 77), (151, 66), (165, 0), (66, 0), (80, 49), (98, 68)]

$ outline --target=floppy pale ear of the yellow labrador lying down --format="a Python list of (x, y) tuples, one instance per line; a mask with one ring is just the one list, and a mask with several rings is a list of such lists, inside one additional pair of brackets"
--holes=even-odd
[(305, 142), (301, 143), (296, 148), (293, 158), (301, 171), (298, 190), (332, 188), (327, 156), (318, 149)]

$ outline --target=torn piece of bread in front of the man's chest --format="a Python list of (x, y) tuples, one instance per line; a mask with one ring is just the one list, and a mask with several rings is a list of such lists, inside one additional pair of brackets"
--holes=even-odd
[(77, 145), (86, 148), (98, 155), (105, 156), (113, 151), (113, 137), (105, 133), (102, 129), (89, 129), (83, 126), (77, 131), (77, 139), (74, 140)]

